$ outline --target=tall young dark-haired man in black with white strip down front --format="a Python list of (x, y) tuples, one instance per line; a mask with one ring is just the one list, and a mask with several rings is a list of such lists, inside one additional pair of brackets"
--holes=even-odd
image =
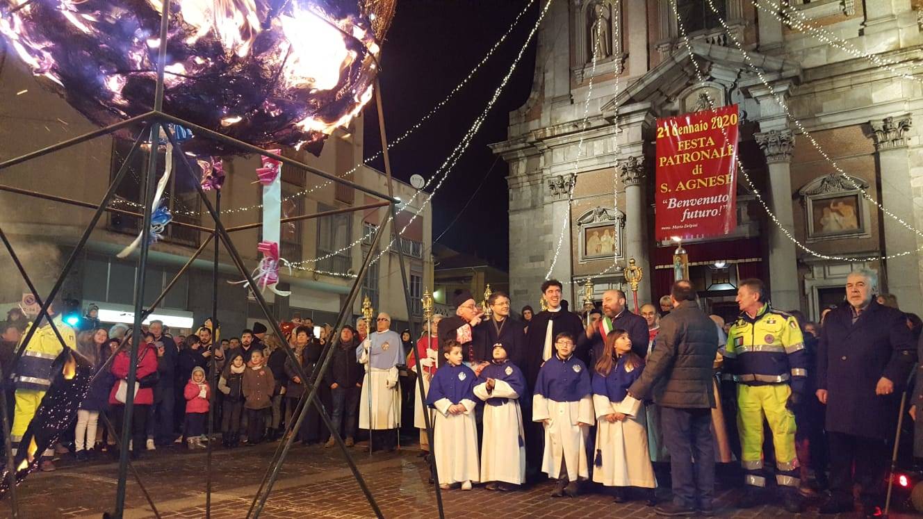
[[(529, 384), (530, 394), (535, 389), (538, 370), (545, 360), (555, 355), (555, 337), (560, 332), (569, 332), (579, 337), (583, 330), (583, 320), (575, 313), (561, 308), (561, 282), (551, 279), (542, 284), (542, 294), (548, 309), (543, 310), (529, 321), (529, 331), (525, 336), (525, 378)], [(582, 360), (582, 359), (581, 359)], [(525, 471), (526, 479), (536, 481), (541, 477), (542, 457), (545, 452), (545, 427), (541, 422), (532, 421), (532, 407), (523, 406), (522, 423), (525, 426)]]

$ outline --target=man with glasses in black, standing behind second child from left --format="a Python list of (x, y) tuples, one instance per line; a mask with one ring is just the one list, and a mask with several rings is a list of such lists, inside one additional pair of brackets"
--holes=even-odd
[(474, 329), (474, 359), (493, 360), (494, 344), (503, 344), (509, 361), (525, 373), (525, 324), (509, 315), (509, 296), (497, 291), (487, 298), (491, 317)]

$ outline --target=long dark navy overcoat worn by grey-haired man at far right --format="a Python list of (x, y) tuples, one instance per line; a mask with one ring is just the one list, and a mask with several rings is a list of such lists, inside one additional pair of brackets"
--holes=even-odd
[[(917, 361), (904, 313), (874, 299), (856, 323), (848, 303), (834, 308), (821, 328), (817, 387), (827, 390), (826, 429), (866, 438), (893, 439), (901, 391)], [(894, 392), (875, 394), (881, 377)]]

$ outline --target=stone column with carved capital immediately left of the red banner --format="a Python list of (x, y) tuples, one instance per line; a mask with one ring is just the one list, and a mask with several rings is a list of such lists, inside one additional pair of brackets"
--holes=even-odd
[[(644, 236), (647, 234), (644, 227), (644, 216), (647, 208), (644, 207), (644, 156), (630, 156), (618, 163), (618, 176), (625, 185), (625, 264), (628, 259), (634, 258), (635, 263), (644, 271), (644, 279), (638, 287), (638, 304), (651, 302), (651, 279), (653, 271), (647, 257), (647, 245)], [(631, 296), (629, 295), (629, 300)], [(632, 307), (633, 308), (633, 307)]]

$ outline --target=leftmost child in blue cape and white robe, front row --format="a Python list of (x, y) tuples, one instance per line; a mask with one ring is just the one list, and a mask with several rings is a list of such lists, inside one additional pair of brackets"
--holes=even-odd
[(461, 344), (448, 341), (442, 353), (446, 364), (436, 372), (426, 395), (426, 404), (438, 410), (434, 435), (439, 487), (462, 483), (462, 490), (470, 490), (472, 481), (478, 480), (473, 391), (477, 377), (462, 365)]

